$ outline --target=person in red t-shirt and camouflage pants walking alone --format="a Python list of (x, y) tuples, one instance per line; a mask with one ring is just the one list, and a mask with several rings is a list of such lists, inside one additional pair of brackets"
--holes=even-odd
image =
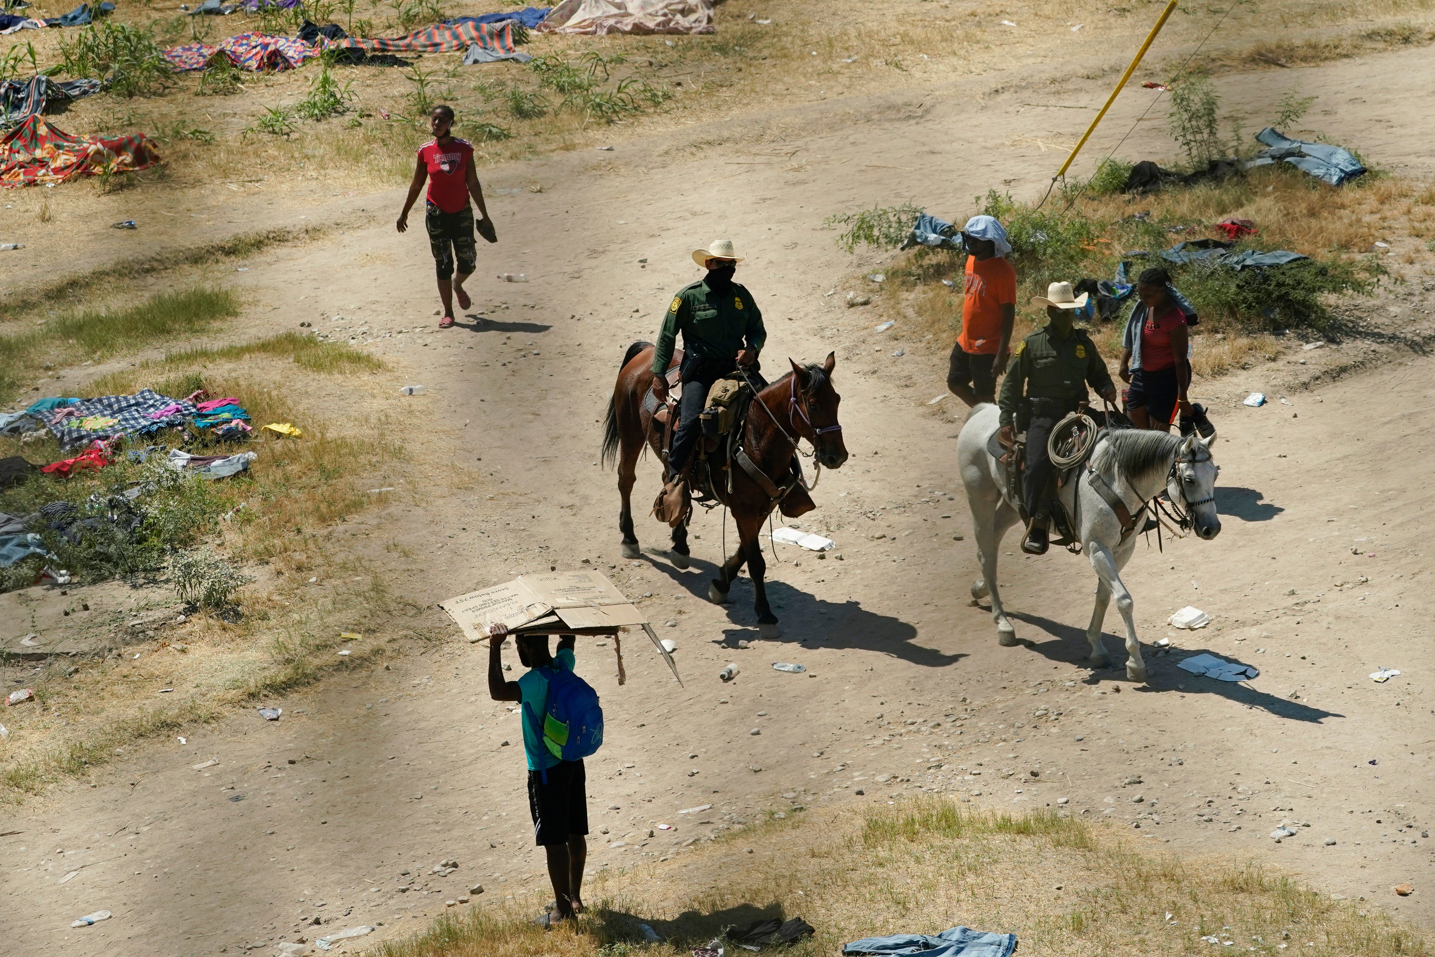
[[(433, 139), (419, 146), (419, 159), (413, 166), (413, 182), (409, 184), (409, 198), (399, 214), (399, 232), (409, 228), (409, 209), (419, 198), (423, 181), (429, 181), (428, 204), (423, 225), (429, 231), (429, 248), (439, 274), (439, 298), (443, 300), (443, 319), (439, 329), (453, 324), (453, 294), (458, 307), (468, 308), (472, 300), (464, 291), (464, 280), (478, 268), (478, 250), (474, 245), (474, 208), (468, 198), (474, 197), (484, 217), (478, 221), (478, 232), (489, 242), (498, 242), (494, 221), (484, 205), (484, 189), (478, 185), (478, 171), (474, 168), (474, 145), (451, 135), (453, 108), (439, 103), (429, 113), (429, 128)], [(458, 275), (453, 275), (455, 260)]]

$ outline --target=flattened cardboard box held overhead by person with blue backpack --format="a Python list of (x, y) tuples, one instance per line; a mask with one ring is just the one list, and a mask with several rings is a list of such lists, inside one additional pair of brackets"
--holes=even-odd
[[(601, 571), (545, 571), (471, 591), (439, 604), (469, 641), (494, 624), (512, 633), (611, 630), (647, 624), (647, 617)], [(535, 627), (537, 626), (537, 627)]]

